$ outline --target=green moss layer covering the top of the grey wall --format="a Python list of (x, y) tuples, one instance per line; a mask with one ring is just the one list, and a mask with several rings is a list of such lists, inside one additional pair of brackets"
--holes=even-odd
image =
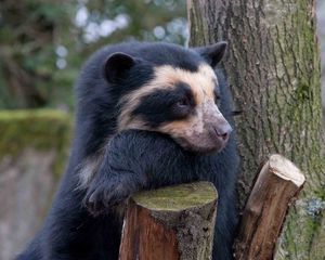
[(1, 110), (0, 158), (16, 157), (24, 148), (53, 150), (55, 174), (63, 170), (72, 135), (70, 116), (53, 109)]

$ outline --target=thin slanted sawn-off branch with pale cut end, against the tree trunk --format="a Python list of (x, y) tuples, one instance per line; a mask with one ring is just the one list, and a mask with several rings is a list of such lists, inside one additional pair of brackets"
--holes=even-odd
[(262, 167), (243, 212), (235, 242), (237, 260), (273, 259), (288, 208), (304, 183), (300, 170), (281, 155)]

